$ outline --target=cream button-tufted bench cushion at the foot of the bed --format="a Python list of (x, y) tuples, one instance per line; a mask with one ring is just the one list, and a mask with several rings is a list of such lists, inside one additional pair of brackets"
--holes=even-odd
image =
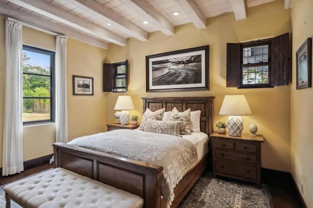
[(24, 208), (141, 208), (143, 199), (62, 167), (4, 187), (10, 199)]

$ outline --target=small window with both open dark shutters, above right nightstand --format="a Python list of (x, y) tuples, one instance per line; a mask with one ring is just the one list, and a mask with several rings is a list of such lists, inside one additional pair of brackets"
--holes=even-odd
[(289, 84), (289, 34), (244, 43), (227, 43), (227, 87)]

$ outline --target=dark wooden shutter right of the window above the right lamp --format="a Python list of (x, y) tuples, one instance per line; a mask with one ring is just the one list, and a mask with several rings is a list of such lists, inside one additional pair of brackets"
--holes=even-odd
[(270, 58), (271, 85), (288, 85), (291, 68), (289, 33), (271, 39)]

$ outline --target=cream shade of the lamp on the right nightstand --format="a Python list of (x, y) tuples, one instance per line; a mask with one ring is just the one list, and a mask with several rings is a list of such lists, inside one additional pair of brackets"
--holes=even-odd
[(225, 95), (220, 115), (251, 115), (252, 111), (246, 102), (245, 95)]

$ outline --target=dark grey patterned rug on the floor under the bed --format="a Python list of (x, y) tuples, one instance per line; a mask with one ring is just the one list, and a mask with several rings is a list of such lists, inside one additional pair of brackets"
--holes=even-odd
[[(0, 186), (0, 208), (5, 208), (3, 188)], [(212, 179), (212, 173), (204, 173), (189, 191), (179, 208), (272, 208), (267, 185), (258, 189), (253, 184), (235, 180)], [(11, 201), (11, 208), (21, 208)]]

